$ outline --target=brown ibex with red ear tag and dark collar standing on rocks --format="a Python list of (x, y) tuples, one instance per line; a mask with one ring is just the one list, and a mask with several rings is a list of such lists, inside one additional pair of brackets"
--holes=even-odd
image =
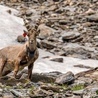
[(8, 46), (0, 50), (0, 76), (13, 71), (14, 77), (19, 78), (17, 72), (28, 66), (28, 78), (31, 79), (33, 64), (39, 55), (36, 41), (39, 32), (28, 23), (25, 26), (28, 30), (28, 41), (24, 45)]

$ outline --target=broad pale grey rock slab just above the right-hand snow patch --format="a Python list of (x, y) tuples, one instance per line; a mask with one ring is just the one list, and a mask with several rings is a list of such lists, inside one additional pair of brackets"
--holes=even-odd
[(67, 56), (87, 59), (94, 58), (96, 50), (95, 48), (81, 46), (77, 43), (68, 43), (63, 46), (63, 50)]

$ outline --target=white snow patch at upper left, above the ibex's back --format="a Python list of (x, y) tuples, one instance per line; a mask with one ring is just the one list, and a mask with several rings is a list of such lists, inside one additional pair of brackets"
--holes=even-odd
[[(10, 15), (7, 10), (11, 10)], [(16, 44), (16, 38), (23, 33), (23, 20), (16, 17), (18, 11), (0, 5), (0, 48), (8, 46), (10, 44)]]

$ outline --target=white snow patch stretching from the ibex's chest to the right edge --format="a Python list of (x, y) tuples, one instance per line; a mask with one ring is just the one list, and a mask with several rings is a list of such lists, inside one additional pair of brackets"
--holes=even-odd
[(35, 62), (34, 72), (52, 72), (52, 71), (59, 71), (62, 73), (66, 73), (68, 71), (72, 71), (74, 74), (86, 71), (86, 68), (78, 68), (74, 67), (74, 65), (82, 64), (89, 67), (98, 67), (98, 60), (83, 60), (73, 57), (63, 57), (64, 62), (58, 63), (54, 61), (50, 61), (50, 58), (43, 59), (42, 57), (50, 56), (51, 58), (57, 58), (60, 56), (54, 56), (51, 53), (45, 52), (39, 49), (39, 59)]

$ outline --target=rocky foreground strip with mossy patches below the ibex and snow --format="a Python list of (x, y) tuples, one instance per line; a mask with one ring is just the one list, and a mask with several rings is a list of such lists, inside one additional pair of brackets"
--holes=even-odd
[(7, 76), (0, 80), (0, 98), (97, 98), (98, 69), (74, 75), (72, 72), (33, 73), (27, 80), (27, 70), (19, 80)]

